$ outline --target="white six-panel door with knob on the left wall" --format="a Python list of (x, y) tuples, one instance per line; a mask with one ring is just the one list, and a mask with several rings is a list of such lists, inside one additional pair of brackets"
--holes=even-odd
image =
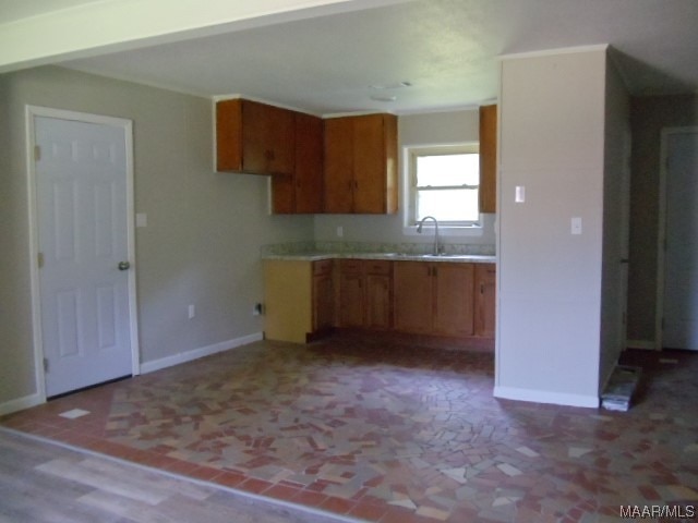
[[(123, 127), (35, 117), (46, 396), (132, 374)], [(121, 266), (120, 266), (121, 264)]]

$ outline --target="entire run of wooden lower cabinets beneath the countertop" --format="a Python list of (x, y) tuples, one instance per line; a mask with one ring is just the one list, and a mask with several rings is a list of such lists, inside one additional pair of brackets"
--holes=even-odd
[(333, 327), (494, 338), (494, 264), (265, 260), (265, 336), (305, 343)]

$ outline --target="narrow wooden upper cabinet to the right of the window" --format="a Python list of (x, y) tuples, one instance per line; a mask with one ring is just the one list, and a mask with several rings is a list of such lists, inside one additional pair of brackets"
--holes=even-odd
[(480, 212), (496, 212), (497, 106), (480, 108)]

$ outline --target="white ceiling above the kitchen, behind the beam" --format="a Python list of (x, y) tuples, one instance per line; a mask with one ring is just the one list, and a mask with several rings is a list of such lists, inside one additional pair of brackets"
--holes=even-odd
[[(0, 13), (21, 17), (40, 4), (75, 3), (0, 0)], [(15, 11), (5, 11), (9, 5)], [(599, 44), (617, 51), (633, 94), (698, 92), (698, 0), (413, 0), (62, 65), (318, 114), (400, 113), (495, 99), (501, 54)], [(390, 87), (399, 82), (412, 85)]]

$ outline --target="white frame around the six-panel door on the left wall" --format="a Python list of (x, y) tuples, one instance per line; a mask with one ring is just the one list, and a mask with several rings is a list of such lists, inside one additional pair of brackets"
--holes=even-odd
[(139, 350), (139, 323), (137, 323), (137, 301), (136, 301), (136, 270), (135, 264), (135, 214), (134, 214), (134, 181), (133, 181), (133, 122), (121, 118), (103, 117), (85, 112), (64, 111), (48, 107), (26, 106), (26, 165), (27, 165), (27, 194), (29, 209), (29, 260), (31, 260), (31, 285), (32, 285), (32, 324), (34, 336), (34, 361), (36, 390), (41, 403), (46, 402), (46, 376), (44, 372), (44, 340), (41, 333), (41, 289), (39, 284), (39, 234), (38, 234), (38, 204), (36, 195), (36, 165), (34, 151), (36, 148), (36, 134), (34, 119), (36, 117), (56, 118), (60, 120), (71, 120), (99, 125), (110, 125), (123, 130), (125, 143), (127, 163), (127, 234), (128, 234), (128, 259), (132, 269), (129, 270), (129, 325), (131, 336), (131, 374), (141, 374), (141, 362)]

